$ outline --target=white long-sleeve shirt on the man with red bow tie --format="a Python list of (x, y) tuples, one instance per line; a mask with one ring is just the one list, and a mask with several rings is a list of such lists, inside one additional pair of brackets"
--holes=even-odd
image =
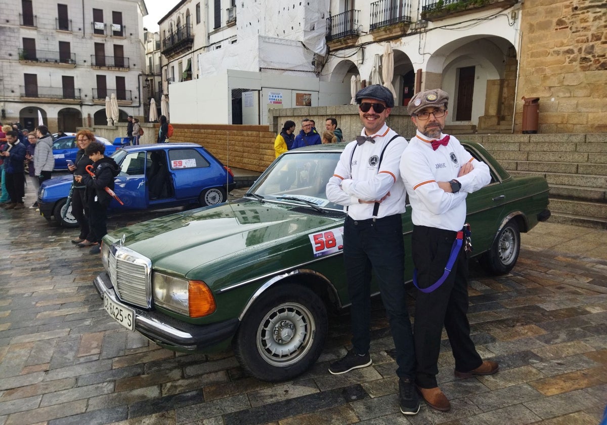
[[(400, 172), (409, 193), (411, 219), (414, 225), (459, 231), (466, 222), (466, 197), (489, 184), (489, 167), (473, 158), (453, 136), (436, 151), (432, 140), (418, 131), (402, 154)], [(458, 177), (459, 168), (466, 163), (472, 163), (474, 169)], [(437, 182), (454, 178), (461, 183), (459, 192), (439, 188)]]

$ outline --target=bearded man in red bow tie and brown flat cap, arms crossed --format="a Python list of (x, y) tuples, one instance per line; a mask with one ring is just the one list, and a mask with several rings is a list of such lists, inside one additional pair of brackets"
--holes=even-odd
[[(407, 106), (417, 127), (402, 154), (401, 178), (409, 194), (411, 239), (418, 288), (415, 299), (416, 384), (434, 409), (450, 409), (436, 381), (443, 325), (447, 330), (455, 376), (469, 378), (498, 371), (483, 361), (470, 339), (466, 196), (490, 181), (489, 167), (472, 157), (459, 141), (443, 134), (449, 94), (441, 89), (417, 93)], [(471, 248), (470, 248), (471, 249)]]

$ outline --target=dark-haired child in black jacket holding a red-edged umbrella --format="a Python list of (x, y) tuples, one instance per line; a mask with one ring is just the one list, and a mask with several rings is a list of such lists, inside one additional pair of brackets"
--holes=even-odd
[(84, 183), (86, 192), (84, 194), (85, 202), (89, 205), (90, 211), (90, 231), (95, 235), (96, 242), (90, 248), (91, 254), (98, 254), (101, 251), (101, 239), (107, 234), (107, 208), (110, 205), (112, 196), (106, 192), (105, 188), (114, 189), (114, 178), (120, 173), (117, 163), (113, 158), (105, 157), (103, 154), (106, 147), (103, 143), (93, 141), (84, 149), (84, 155), (88, 155), (93, 161), (94, 176), (84, 174), (75, 175), (76, 182)]

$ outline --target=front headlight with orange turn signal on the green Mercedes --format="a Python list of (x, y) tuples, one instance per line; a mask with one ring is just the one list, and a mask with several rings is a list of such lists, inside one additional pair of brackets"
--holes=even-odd
[(153, 273), (152, 288), (156, 305), (180, 315), (202, 318), (215, 311), (215, 298), (203, 281)]

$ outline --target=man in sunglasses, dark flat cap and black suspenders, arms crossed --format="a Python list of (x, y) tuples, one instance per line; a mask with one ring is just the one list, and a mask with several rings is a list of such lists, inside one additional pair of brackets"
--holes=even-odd
[(404, 137), (385, 123), (394, 106), (392, 92), (375, 84), (356, 94), (363, 129), (347, 144), (327, 183), (327, 199), (344, 205), (344, 263), (351, 307), (352, 349), (332, 363), (334, 375), (370, 366), (371, 268), (379, 282), (396, 348), (399, 404), (405, 415), (419, 411), (415, 352), (404, 285), (401, 214), (405, 188), (399, 161)]

